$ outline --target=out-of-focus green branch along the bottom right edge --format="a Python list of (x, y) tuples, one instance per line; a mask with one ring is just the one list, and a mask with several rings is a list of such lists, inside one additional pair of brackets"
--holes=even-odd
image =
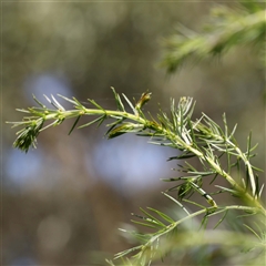
[[(254, 248), (254, 245), (257, 245), (257, 249), (259, 249), (259, 253), (258, 255), (252, 257), (252, 259), (250, 257), (248, 257), (248, 259), (250, 260), (247, 262), (245, 260), (245, 256), (247, 255), (247, 250)], [(213, 249), (208, 250), (206, 248), (207, 246), (212, 246)], [(217, 231), (206, 229), (204, 234), (202, 232), (198, 232), (196, 228), (190, 231), (185, 231), (184, 228), (178, 231), (176, 229), (175, 232), (172, 233), (172, 235), (167, 237), (161, 237), (158, 242), (154, 242), (153, 244), (150, 243), (150, 246), (145, 247), (146, 249), (143, 248), (143, 246), (140, 246), (140, 249), (141, 247), (142, 247), (142, 250), (140, 252), (141, 256), (140, 254), (137, 254), (132, 259), (124, 259), (122, 257), (121, 258), (121, 260), (123, 262), (122, 264), (114, 264), (111, 260), (108, 260), (108, 263), (112, 266), (151, 265), (151, 262), (162, 259), (162, 254), (170, 254), (170, 252), (172, 252), (180, 255), (180, 257), (176, 259), (178, 262), (178, 265), (185, 265), (182, 264), (181, 262), (183, 258), (183, 255), (178, 253), (181, 249), (186, 249), (190, 250), (191, 253), (193, 252), (193, 249), (194, 250), (197, 249), (198, 254), (195, 258), (197, 265), (201, 264), (201, 259), (203, 257), (211, 258), (213, 256), (218, 257), (219, 255), (221, 255), (219, 259), (223, 259), (223, 263), (219, 265), (225, 265), (227, 263), (225, 260), (225, 257), (232, 256), (232, 254), (234, 254), (234, 257), (242, 263), (241, 265), (263, 265), (265, 260), (264, 257), (265, 244), (263, 242), (258, 244), (255, 235), (248, 235), (241, 232), (229, 232), (223, 229)], [(226, 256), (222, 257), (222, 254), (226, 254)], [(121, 253), (117, 255), (124, 254)], [(192, 256), (192, 254), (190, 254), (188, 256)], [(211, 263), (204, 265), (214, 264)]]

